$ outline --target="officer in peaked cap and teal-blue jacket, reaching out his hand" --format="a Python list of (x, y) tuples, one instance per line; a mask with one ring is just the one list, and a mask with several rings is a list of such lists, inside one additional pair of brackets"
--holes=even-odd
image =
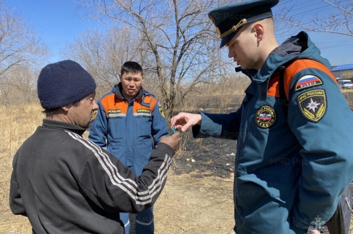
[(182, 112), (171, 124), (181, 132), (192, 127), (194, 137), (238, 141), (237, 234), (327, 233), (342, 194), (349, 227), (353, 113), (305, 32), (277, 44), (271, 12), (277, 3), (241, 1), (209, 13), (220, 48), (226, 45), (251, 84), (237, 111)]

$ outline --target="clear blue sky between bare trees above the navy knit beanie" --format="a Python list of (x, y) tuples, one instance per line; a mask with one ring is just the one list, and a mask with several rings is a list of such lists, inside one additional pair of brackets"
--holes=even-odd
[(48, 45), (52, 51), (49, 62), (64, 59), (60, 51), (66, 43), (73, 43), (85, 30), (99, 26), (94, 20), (79, 18), (77, 4), (71, 0), (5, 0), (5, 4), (28, 19), (28, 24)]

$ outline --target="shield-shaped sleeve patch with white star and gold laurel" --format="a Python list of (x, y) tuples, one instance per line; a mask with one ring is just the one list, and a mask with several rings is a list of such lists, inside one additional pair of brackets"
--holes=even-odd
[(325, 90), (310, 90), (300, 94), (298, 104), (304, 117), (313, 123), (319, 122), (327, 111), (327, 98)]

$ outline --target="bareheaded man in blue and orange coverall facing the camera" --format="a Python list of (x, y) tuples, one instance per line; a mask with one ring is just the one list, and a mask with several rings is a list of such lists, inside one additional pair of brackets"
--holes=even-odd
[[(143, 69), (137, 62), (125, 62), (120, 83), (99, 101), (89, 139), (130, 167), (139, 176), (161, 136), (168, 135), (167, 122), (156, 97), (142, 88)], [(129, 233), (128, 213), (120, 213)], [(153, 207), (136, 215), (136, 233), (154, 233)]]

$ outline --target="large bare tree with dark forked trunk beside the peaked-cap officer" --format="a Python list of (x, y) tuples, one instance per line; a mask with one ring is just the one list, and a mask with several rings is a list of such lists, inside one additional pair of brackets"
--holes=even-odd
[(218, 49), (219, 42), (215, 41), (215, 27), (207, 17), (219, 2), (80, 0), (78, 3), (85, 16), (110, 19), (113, 22), (110, 24), (131, 28), (141, 42), (135, 49), (143, 51), (140, 59), (144, 67), (156, 77), (155, 86), (164, 99), (167, 118), (172, 116), (177, 100), (182, 101), (200, 84), (213, 82), (223, 71), (226, 62)]

